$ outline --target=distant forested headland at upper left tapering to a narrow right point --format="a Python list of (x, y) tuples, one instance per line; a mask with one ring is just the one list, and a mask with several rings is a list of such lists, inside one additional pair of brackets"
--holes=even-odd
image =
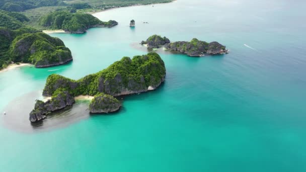
[(89, 28), (108, 27), (118, 25), (118, 22), (110, 20), (100, 21), (98, 18), (84, 13), (70, 13), (68, 11), (51, 12), (40, 19), (40, 25), (47, 29), (62, 29), (67, 33), (83, 34)]

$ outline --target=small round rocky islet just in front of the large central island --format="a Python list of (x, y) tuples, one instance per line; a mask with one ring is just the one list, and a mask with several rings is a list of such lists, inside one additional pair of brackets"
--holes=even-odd
[(120, 102), (113, 96), (100, 93), (95, 96), (89, 105), (91, 113), (109, 113), (120, 109)]

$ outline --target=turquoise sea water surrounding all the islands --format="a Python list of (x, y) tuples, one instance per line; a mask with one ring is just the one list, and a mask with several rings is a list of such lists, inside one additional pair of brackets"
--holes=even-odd
[(81, 103), (70, 110), (78, 120), (44, 129), (22, 121), (28, 112), (17, 121), (7, 111), (0, 171), (305, 171), (305, 5), (179, 0), (95, 15), (118, 21), (111, 29), (51, 34), (71, 49), (73, 62), (0, 73), (0, 109), (27, 95), (34, 105), (51, 73), (78, 79), (144, 54), (137, 43), (152, 34), (218, 41), (231, 52), (191, 58), (159, 50), (166, 82), (125, 97), (115, 115), (89, 116)]

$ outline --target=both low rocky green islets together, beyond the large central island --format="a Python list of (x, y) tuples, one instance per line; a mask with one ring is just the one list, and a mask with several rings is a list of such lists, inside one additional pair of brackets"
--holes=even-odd
[(164, 45), (166, 49), (179, 51), (185, 53), (188, 56), (204, 56), (206, 54), (225, 54), (228, 50), (225, 46), (219, 44), (218, 42), (207, 43), (205, 41), (199, 41), (193, 38), (190, 42), (187, 41), (177, 41), (171, 42), (168, 38), (162, 38), (159, 35), (150, 36), (146, 41), (142, 41), (140, 44), (147, 44), (147, 48), (159, 48), (160, 45)]

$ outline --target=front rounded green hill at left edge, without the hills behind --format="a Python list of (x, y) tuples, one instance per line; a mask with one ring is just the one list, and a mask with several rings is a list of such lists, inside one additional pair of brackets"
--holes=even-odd
[(0, 61), (10, 63), (31, 63), (35, 67), (60, 65), (72, 60), (72, 55), (65, 44), (58, 38), (51, 37), (35, 29), (20, 28), (11, 30), (0, 27), (0, 38), (6, 47), (0, 47)]

